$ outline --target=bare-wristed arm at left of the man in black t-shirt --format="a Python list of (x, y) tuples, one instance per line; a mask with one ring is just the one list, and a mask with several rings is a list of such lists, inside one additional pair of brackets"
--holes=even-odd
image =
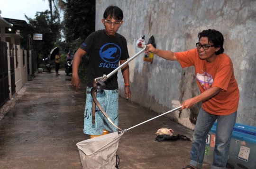
[(72, 80), (71, 84), (74, 86), (75, 91), (77, 92), (78, 88), (80, 87), (80, 79), (78, 77), (78, 67), (81, 63), (81, 58), (83, 55), (86, 54), (86, 51), (83, 51), (79, 48), (74, 55), (73, 63), (72, 63)]

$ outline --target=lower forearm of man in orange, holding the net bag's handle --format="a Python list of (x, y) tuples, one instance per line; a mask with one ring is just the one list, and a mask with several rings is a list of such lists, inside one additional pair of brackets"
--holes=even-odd
[(205, 101), (207, 99), (212, 98), (213, 96), (217, 95), (219, 91), (220, 91), (220, 88), (214, 86), (214, 87), (211, 87), (209, 90), (199, 94), (198, 96), (195, 96), (191, 99), (183, 101), (182, 110), (191, 108), (194, 104), (196, 104), (199, 101)]

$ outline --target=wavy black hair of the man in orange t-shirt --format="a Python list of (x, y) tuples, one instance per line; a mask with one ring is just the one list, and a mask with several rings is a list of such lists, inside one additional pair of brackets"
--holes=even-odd
[(215, 52), (216, 55), (219, 55), (224, 52), (224, 38), (219, 31), (216, 31), (214, 29), (204, 30), (198, 34), (199, 40), (201, 39), (201, 37), (208, 37), (209, 42), (212, 42), (215, 47), (220, 47), (219, 51)]

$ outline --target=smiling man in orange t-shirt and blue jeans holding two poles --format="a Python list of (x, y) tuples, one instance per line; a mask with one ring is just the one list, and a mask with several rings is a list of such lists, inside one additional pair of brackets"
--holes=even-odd
[(204, 30), (198, 34), (196, 49), (172, 52), (155, 49), (151, 44), (146, 51), (167, 60), (178, 60), (182, 68), (194, 66), (196, 81), (201, 94), (183, 101), (182, 110), (202, 101), (193, 134), (190, 165), (183, 169), (201, 169), (205, 141), (217, 120), (216, 144), (211, 169), (225, 169), (228, 161), (229, 143), (236, 123), (239, 90), (234, 76), (233, 63), (224, 54), (223, 35), (216, 30)]

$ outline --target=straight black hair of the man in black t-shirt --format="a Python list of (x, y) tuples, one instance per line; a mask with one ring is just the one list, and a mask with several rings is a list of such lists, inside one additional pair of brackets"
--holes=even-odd
[(104, 14), (103, 14), (103, 19), (106, 19), (108, 16), (110, 18), (114, 18), (115, 20), (123, 20), (124, 14), (122, 9), (116, 7), (116, 6), (109, 6), (106, 8)]

